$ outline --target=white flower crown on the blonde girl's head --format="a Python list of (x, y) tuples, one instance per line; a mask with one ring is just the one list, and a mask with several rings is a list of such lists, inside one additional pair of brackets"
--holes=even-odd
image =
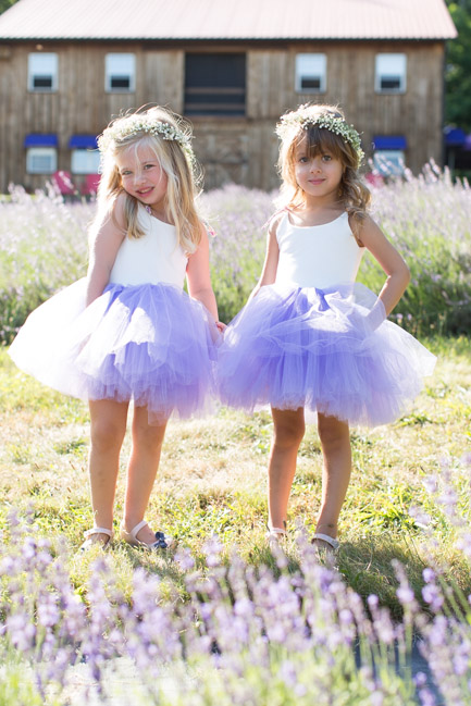
[(164, 120), (142, 114), (117, 119), (103, 131), (102, 135), (99, 136), (98, 149), (102, 154), (104, 154), (113, 143), (120, 143), (126, 137), (133, 137), (140, 133), (154, 135), (165, 140), (178, 143), (188, 158), (189, 163), (193, 163), (195, 153), (191, 147), (191, 135), (184, 133), (182, 129), (178, 129)]

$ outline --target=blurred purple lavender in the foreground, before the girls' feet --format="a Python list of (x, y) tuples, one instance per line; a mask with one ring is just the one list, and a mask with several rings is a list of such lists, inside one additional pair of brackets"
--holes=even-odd
[[(463, 456), (457, 466), (464, 472), (469, 460)], [(455, 475), (426, 482), (469, 559), (469, 508), (458, 501)], [(33, 518), (11, 512), (1, 537), (0, 648), (7, 666), (0, 694), (17, 669), (14, 652), (45, 704), (65, 703), (78, 664), (107, 702), (110, 670), (117, 673), (123, 660), (135, 665), (145, 690), (136, 705), (412, 706), (419, 699), (433, 706), (438, 690), (445, 706), (471, 704), (471, 606), (441, 581), (439, 567), (424, 569), (422, 595), (414, 595), (405, 567), (395, 565), (402, 607), (402, 620), (395, 622), (375, 595), (363, 603), (329, 561), (320, 561), (302, 531), (296, 568), (277, 547), (273, 569), (247, 565), (236, 553), (223, 561), (213, 536), (203, 545), (202, 566), (185, 547), (174, 556), (185, 600), (140, 568), (126, 599), (102, 557), (89, 563), (88, 587), (79, 595), (66, 547), (53, 547), (37, 532)], [(412, 673), (414, 640), (426, 674)], [(10, 677), (10, 691), (12, 683)]]

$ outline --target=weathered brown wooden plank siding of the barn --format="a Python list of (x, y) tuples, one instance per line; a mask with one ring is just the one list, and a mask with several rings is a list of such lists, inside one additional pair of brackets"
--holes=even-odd
[[(185, 48), (193, 52), (244, 51), (246, 115), (195, 116), (195, 150), (206, 171), (206, 187), (234, 181), (250, 187), (274, 188), (277, 140), (274, 125), (288, 109), (307, 101), (338, 103), (347, 120), (362, 133), (367, 156), (374, 135), (404, 135), (406, 161), (413, 172), (430, 159), (442, 162), (443, 63), (442, 41), (323, 41), (182, 45), (158, 41), (48, 41), (44, 51), (59, 55), (57, 92), (27, 91), (28, 53), (35, 42), (0, 46), (0, 191), (10, 182), (28, 189), (42, 187), (47, 177), (26, 174), (24, 138), (30, 133), (55, 133), (58, 168), (70, 171), (69, 139), (74, 134), (99, 134), (111, 115), (148, 102), (184, 110)], [(408, 58), (404, 95), (374, 92), (377, 52), (405, 52)], [(104, 61), (109, 52), (136, 55), (133, 94), (104, 91)], [(325, 94), (295, 90), (295, 61), (299, 52), (327, 57)], [(76, 179), (79, 181), (79, 177)]]

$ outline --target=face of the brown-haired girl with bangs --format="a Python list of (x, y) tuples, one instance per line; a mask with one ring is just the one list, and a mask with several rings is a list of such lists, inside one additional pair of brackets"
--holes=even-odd
[(333, 197), (337, 200), (344, 165), (329, 150), (308, 150), (303, 139), (295, 149), (295, 177), (298, 186), (310, 197)]

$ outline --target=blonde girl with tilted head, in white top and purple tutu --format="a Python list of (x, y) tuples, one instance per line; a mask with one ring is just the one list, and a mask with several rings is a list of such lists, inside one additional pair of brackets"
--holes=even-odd
[(34, 311), (10, 348), (20, 368), (89, 402), (95, 521), (84, 548), (113, 537), (131, 401), (121, 536), (151, 549), (169, 546), (144, 517), (166, 421), (202, 410), (213, 393), (218, 309), (190, 139), (183, 119), (162, 108), (107, 127), (98, 140), (102, 176), (87, 277)]

